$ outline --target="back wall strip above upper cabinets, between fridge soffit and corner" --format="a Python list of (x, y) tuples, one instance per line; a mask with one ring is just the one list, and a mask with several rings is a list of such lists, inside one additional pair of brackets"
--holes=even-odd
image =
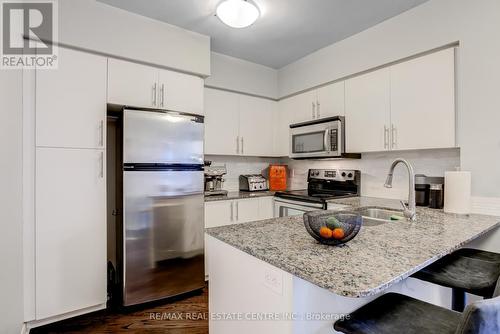
[(211, 53), (212, 74), (205, 85), (276, 98), (278, 71), (246, 60)]

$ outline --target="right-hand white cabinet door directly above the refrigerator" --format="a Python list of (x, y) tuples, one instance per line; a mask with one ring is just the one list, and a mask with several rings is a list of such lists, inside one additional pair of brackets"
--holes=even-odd
[(167, 70), (159, 78), (160, 108), (203, 115), (203, 79)]

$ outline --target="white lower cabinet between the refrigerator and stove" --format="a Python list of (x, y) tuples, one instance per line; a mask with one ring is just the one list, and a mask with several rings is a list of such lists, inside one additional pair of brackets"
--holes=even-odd
[[(227, 201), (205, 202), (205, 227), (241, 224), (274, 217), (272, 196)], [(205, 247), (205, 277), (208, 277), (208, 256)]]

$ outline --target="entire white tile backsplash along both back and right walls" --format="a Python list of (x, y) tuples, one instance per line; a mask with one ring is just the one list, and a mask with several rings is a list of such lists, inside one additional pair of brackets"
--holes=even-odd
[(213, 165), (226, 165), (224, 189), (238, 190), (240, 174), (266, 173), (271, 163), (288, 165), (288, 188), (307, 187), (307, 171), (310, 168), (340, 168), (361, 170), (361, 194), (363, 196), (406, 199), (408, 197), (408, 177), (403, 165), (396, 167), (393, 188), (383, 187), (389, 166), (395, 158), (408, 159), (417, 174), (444, 176), (447, 170), (460, 166), (460, 150), (457, 148), (440, 150), (398, 151), (364, 153), (361, 159), (351, 160), (292, 160), (289, 158), (259, 158), (240, 156), (206, 155)]

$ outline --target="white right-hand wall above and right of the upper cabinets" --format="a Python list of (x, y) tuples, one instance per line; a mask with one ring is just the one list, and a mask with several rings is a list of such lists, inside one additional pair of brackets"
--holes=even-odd
[(431, 0), (280, 69), (279, 96), (459, 41), (461, 167), (474, 196), (500, 197), (499, 32), (498, 0)]

